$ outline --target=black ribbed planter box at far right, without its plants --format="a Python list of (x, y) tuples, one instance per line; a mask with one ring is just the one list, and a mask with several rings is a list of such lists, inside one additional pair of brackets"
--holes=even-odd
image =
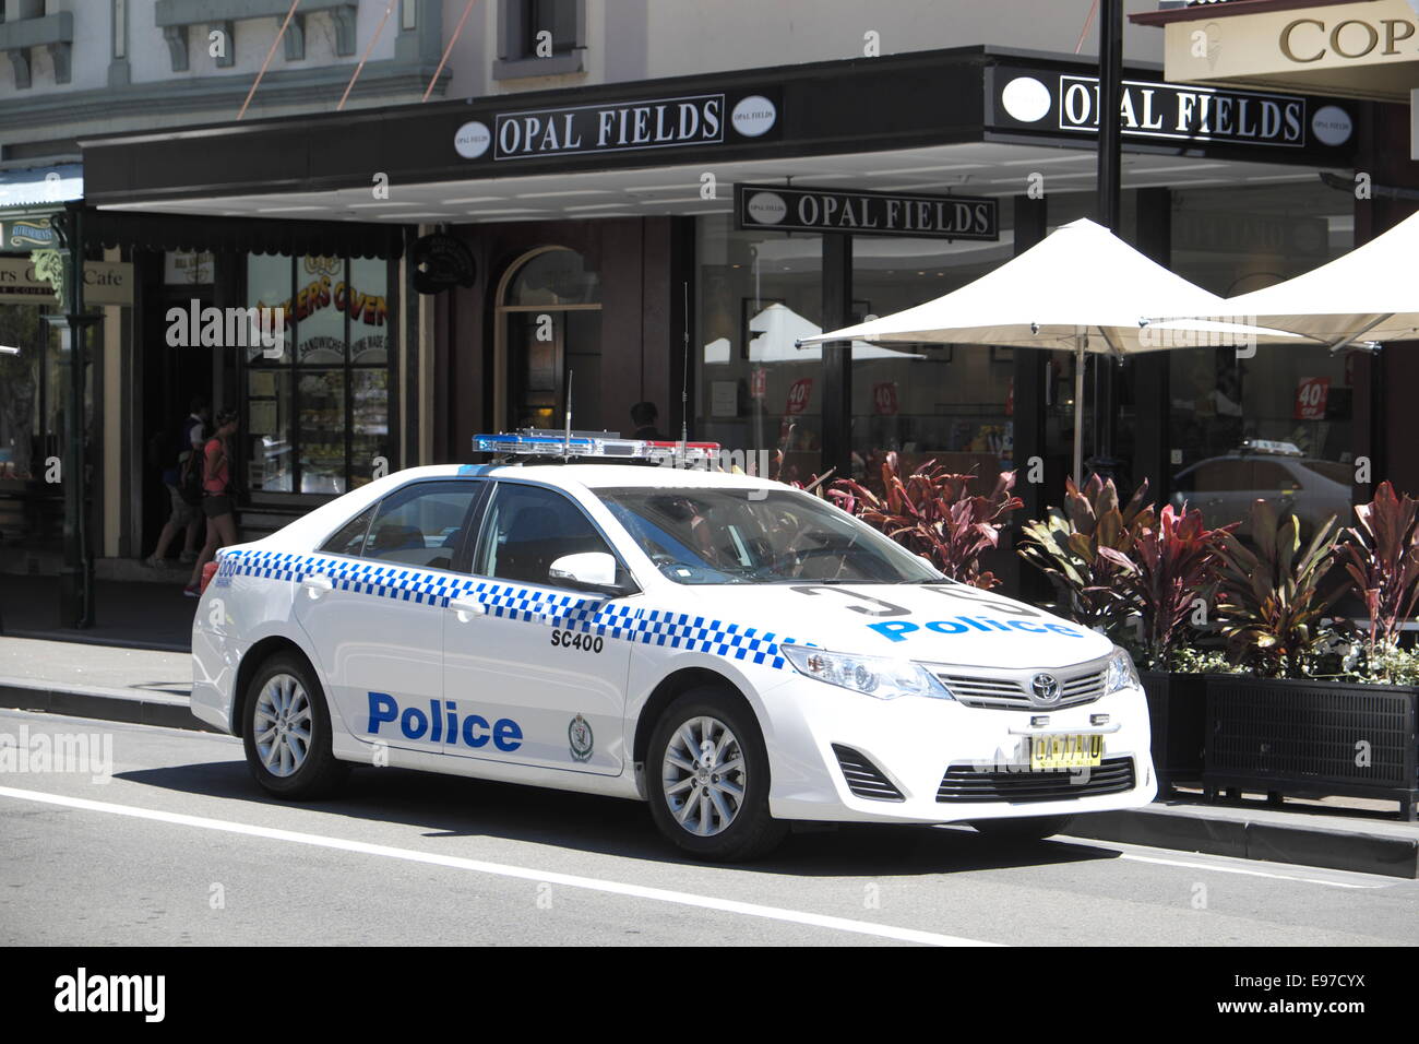
[[(1206, 676), (1202, 784), (1291, 797), (1419, 800), (1419, 689), (1243, 675)], [(1361, 751), (1368, 744), (1368, 764)]]

